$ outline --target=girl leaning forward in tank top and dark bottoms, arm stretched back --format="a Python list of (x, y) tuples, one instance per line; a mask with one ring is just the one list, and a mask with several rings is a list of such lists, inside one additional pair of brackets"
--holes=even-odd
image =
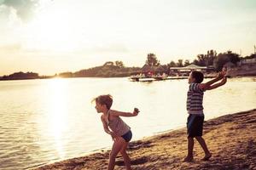
[(120, 152), (125, 161), (126, 169), (131, 169), (131, 160), (126, 153), (127, 145), (131, 140), (132, 133), (129, 127), (119, 116), (137, 116), (138, 109), (131, 112), (110, 110), (113, 103), (111, 95), (100, 95), (93, 99), (96, 101), (96, 111), (102, 113), (101, 119), (104, 131), (111, 135), (113, 139), (112, 150), (109, 155), (108, 170), (113, 170), (115, 158)]

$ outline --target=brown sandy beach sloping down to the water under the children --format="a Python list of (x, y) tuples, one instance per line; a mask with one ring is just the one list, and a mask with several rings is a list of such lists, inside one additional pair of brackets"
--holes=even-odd
[[(128, 154), (132, 169), (256, 169), (256, 109), (220, 116), (204, 123), (204, 139), (212, 152), (210, 161), (201, 161), (203, 150), (195, 142), (194, 161), (183, 162), (187, 154), (186, 128), (132, 141)], [(185, 117), (184, 117), (185, 118)], [(171, 122), (170, 122), (171, 123)], [(107, 169), (108, 151), (55, 162), (46, 169)], [(125, 169), (121, 156), (115, 169)]]

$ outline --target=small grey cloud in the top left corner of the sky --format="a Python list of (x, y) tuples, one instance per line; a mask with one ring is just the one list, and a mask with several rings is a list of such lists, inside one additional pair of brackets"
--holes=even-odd
[(28, 21), (32, 19), (38, 3), (39, 0), (0, 0), (0, 7), (14, 8), (20, 20)]

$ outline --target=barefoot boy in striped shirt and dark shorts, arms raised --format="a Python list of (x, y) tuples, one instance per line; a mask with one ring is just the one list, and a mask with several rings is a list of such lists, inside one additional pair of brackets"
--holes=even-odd
[[(218, 77), (213, 78), (209, 82), (201, 83), (204, 76), (200, 71), (192, 71), (189, 74), (189, 91), (187, 98), (187, 111), (189, 113), (187, 121), (188, 156), (184, 158), (184, 161), (193, 161), (194, 138), (201, 144), (201, 147), (205, 152), (205, 156), (202, 160), (207, 161), (212, 156), (207, 148), (205, 140), (201, 137), (204, 122), (202, 106), (203, 94), (206, 90), (212, 90), (224, 85), (227, 82), (227, 78), (224, 76), (225, 71), (222, 71), (218, 74)], [(213, 84), (214, 82), (218, 83)]]

